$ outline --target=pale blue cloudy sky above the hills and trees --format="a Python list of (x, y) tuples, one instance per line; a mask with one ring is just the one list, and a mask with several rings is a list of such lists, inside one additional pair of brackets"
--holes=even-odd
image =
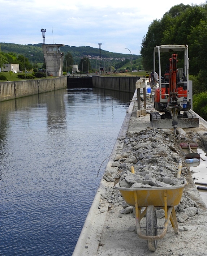
[(46, 29), (46, 44), (99, 48), (102, 43), (105, 51), (129, 54), (130, 50), (139, 55), (153, 20), (161, 19), (174, 5), (202, 2), (0, 0), (0, 42), (42, 43), (40, 30)]

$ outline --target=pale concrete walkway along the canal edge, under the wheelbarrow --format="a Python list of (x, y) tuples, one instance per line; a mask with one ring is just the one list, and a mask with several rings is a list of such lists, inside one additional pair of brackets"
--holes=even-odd
[[(136, 116), (136, 93), (129, 106), (124, 123), (121, 127), (118, 138), (137, 133), (151, 127), (150, 114), (137, 118)], [(152, 108), (153, 103), (148, 102), (147, 108)], [(202, 137), (204, 145), (207, 141), (207, 122), (199, 119), (199, 128), (191, 128), (192, 132), (198, 133)], [(106, 170), (116, 171), (117, 167), (111, 167), (119, 140), (115, 143), (112, 156), (109, 158)], [(207, 143), (206, 143), (207, 145)], [(101, 256), (131, 256), (131, 255), (207, 255), (206, 226), (207, 213), (206, 205), (199, 196), (193, 179), (189, 173), (189, 185), (184, 194), (190, 196), (205, 211), (185, 221), (178, 223), (180, 231), (175, 235), (171, 224), (168, 225), (167, 234), (158, 241), (158, 248), (155, 252), (148, 251), (146, 240), (138, 238), (133, 232), (135, 229), (135, 219), (133, 214), (125, 214), (120, 217), (121, 205), (114, 206), (103, 199), (105, 190), (114, 187), (113, 182), (107, 182), (102, 178), (91, 209), (86, 218), (81, 235), (79, 236), (73, 256), (81, 255), (101, 255)], [(145, 219), (141, 226), (145, 226)], [(163, 226), (163, 219), (158, 219), (158, 226)], [(186, 231), (183, 227), (185, 226)]]

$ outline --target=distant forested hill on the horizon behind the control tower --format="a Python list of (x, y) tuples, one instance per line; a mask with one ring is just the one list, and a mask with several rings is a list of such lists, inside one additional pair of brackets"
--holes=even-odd
[[(32, 63), (43, 63), (44, 56), (42, 51), (42, 43), (39, 44), (14, 44), (14, 43), (0, 43), (1, 51), (8, 53), (13, 52), (17, 55), (21, 54), (24, 55), (29, 59)], [(70, 52), (73, 57), (82, 57), (85, 55), (94, 55), (99, 56), (99, 48), (93, 48), (90, 46), (69, 46), (65, 45), (64, 47), (60, 47), (60, 50), (64, 52), (65, 54), (67, 52)], [(102, 57), (113, 57), (113, 58), (128, 58), (130, 59), (130, 54), (121, 54), (116, 52), (109, 52), (102, 50), (101, 51)], [(33, 56), (31, 56), (33, 55)], [(137, 59), (138, 55), (132, 55), (133, 59)]]

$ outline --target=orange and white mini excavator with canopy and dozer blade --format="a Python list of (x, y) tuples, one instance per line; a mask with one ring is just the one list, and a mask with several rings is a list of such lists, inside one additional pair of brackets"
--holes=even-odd
[[(181, 79), (177, 69), (177, 52), (179, 51), (184, 51), (184, 69), (180, 69), (182, 72)], [(171, 53), (163, 77), (161, 76), (161, 52)], [(159, 83), (159, 88), (155, 89), (154, 108), (159, 112), (150, 113), (152, 127), (174, 128), (174, 133), (176, 133), (177, 127), (199, 127), (199, 118), (191, 110), (192, 82), (190, 81), (189, 85), (188, 46), (186, 44), (156, 46), (154, 48), (154, 74), (156, 53), (158, 53), (159, 77), (161, 79), (156, 81)]]

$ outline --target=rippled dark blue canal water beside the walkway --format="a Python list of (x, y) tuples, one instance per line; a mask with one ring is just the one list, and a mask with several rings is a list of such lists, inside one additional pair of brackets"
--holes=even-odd
[(72, 255), (133, 95), (0, 102), (0, 255)]

